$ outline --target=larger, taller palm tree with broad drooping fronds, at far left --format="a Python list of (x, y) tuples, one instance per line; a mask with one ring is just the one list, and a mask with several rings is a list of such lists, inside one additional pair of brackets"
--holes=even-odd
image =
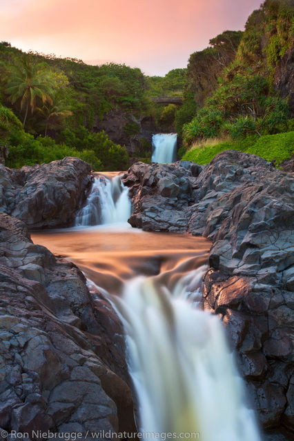
[(25, 109), (24, 127), (28, 110), (30, 108), (31, 113), (34, 112), (37, 99), (41, 99), (43, 103), (52, 104), (50, 71), (46, 70), (42, 63), (25, 57), (18, 65), (11, 68), (6, 92), (10, 95), (12, 104), (20, 101), (21, 110)]

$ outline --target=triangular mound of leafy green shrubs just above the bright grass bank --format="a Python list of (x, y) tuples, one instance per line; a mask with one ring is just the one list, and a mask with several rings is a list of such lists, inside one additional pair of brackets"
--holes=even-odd
[(232, 65), (206, 105), (184, 125), (184, 142), (189, 145), (222, 134), (239, 139), (253, 133), (284, 132), (288, 114), (287, 101), (271, 92), (268, 78)]

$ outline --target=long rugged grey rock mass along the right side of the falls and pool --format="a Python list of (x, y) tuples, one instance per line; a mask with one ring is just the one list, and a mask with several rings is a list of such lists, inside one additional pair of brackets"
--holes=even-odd
[(220, 314), (259, 420), (293, 427), (294, 178), (233, 150), (201, 166), (137, 163), (134, 227), (212, 240), (204, 305)]

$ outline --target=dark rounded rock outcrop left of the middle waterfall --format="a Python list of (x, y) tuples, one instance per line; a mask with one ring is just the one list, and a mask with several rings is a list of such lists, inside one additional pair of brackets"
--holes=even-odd
[(78, 158), (19, 170), (0, 165), (1, 211), (30, 228), (68, 226), (91, 181), (90, 165)]

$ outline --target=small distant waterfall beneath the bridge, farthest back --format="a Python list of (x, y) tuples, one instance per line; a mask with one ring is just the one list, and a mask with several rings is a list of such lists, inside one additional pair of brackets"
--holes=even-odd
[(153, 163), (172, 163), (177, 158), (177, 134), (157, 133), (153, 135)]

